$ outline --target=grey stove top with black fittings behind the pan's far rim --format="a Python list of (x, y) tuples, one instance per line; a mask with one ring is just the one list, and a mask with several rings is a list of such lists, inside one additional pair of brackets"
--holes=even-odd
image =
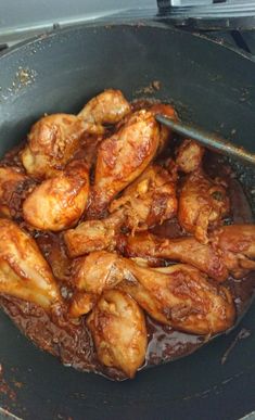
[[(241, 18), (246, 15), (254, 20), (255, 28), (254, 0), (74, 0), (72, 8), (69, 4), (69, 0), (0, 0), (0, 52), (59, 27), (99, 21), (140, 22), (145, 18), (160, 20), (184, 30), (203, 29), (204, 36), (255, 55), (255, 29), (245, 30), (245, 25), (241, 24), (231, 30), (226, 27), (230, 24), (229, 16)], [(220, 21), (221, 28), (217, 26), (219, 20), (216, 16), (219, 14), (225, 16)], [(199, 17), (196, 21), (195, 16)], [(212, 27), (218, 30), (212, 30)]]

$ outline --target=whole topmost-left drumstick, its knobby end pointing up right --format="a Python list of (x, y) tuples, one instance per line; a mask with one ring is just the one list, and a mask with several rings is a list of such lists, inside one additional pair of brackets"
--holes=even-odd
[(103, 124), (115, 124), (129, 112), (130, 105), (119, 90), (105, 90), (91, 99), (78, 116), (52, 114), (40, 118), (22, 152), (24, 167), (36, 178), (55, 175), (73, 157), (84, 135), (103, 133)]

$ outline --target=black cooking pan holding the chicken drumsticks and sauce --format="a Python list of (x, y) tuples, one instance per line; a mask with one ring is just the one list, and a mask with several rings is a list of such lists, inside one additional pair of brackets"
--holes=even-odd
[[(76, 27), (8, 50), (0, 58), (0, 152), (24, 139), (44, 112), (76, 112), (109, 87), (138, 98), (153, 80), (161, 89), (152, 97), (174, 101), (184, 118), (255, 151), (253, 60), (188, 33), (144, 24)], [(254, 173), (241, 170), (251, 192)], [(1, 405), (38, 420), (239, 419), (255, 410), (254, 319), (253, 305), (230, 334), (114, 383), (63, 367), (1, 314)], [(245, 339), (235, 340), (222, 365), (238, 334)]]

